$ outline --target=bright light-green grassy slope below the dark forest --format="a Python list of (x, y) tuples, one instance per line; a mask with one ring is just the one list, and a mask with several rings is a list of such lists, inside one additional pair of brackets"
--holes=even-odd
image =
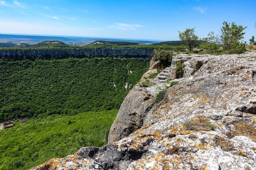
[(15, 122), (13, 128), (0, 130), (0, 170), (27, 170), (81, 147), (103, 146), (117, 112), (51, 115), (28, 119), (23, 126)]

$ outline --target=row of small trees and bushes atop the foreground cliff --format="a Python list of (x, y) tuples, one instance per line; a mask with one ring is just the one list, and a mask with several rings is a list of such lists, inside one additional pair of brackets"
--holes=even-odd
[[(179, 38), (186, 45), (189, 46), (189, 50), (192, 51), (198, 46), (198, 40), (202, 43), (199, 45), (200, 49), (204, 49), (213, 53), (215, 51), (227, 51), (228, 53), (243, 53), (245, 52), (246, 42), (243, 41), (243, 32), (247, 27), (236, 25), (235, 22), (228, 23), (223, 22), (223, 26), (220, 29), (219, 34), (210, 32), (207, 38), (199, 39), (195, 35), (195, 28), (186, 29), (184, 32), (179, 31)], [(254, 44), (254, 36), (249, 40), (250, 44)]]

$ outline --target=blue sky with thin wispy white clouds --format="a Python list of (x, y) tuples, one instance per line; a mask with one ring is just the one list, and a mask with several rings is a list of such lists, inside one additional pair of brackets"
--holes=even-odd
[(256, 0), (0, 0), (0, 33), (178, 40), (202, 38), (223, 21), (256, 36)]

